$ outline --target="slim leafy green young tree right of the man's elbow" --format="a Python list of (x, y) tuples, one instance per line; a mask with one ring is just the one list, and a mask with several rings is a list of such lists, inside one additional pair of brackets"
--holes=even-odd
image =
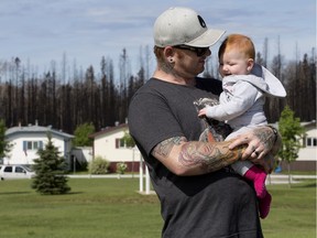
[(294, 111), (288, 106), (281, 113), (278, 131), (283, 143), (278, 155), (282, 161), (287, 162), (288, 184), (291, 186), (291, 163), (298, 158), (300, 139), (304, 137), (305, 130), (300, 126), (299, 118), (294, 117)]

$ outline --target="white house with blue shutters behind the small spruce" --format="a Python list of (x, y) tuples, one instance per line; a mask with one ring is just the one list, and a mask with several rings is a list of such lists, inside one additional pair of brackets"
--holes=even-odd
[(67, 164), (70, 166), (70, 150), (72, 139), (74, 136), (59, 130), (54, 130), (52, 127), (40, 127), (29, 125), (28, 127), (9, 128), (6, 131), (6, 140), (12, 145), (8, 156), (3, 159), (4, 164), (33, 164), (34, 159), (39, 158), (37, 150), (43, 149), (47, 143), (47, 133), (52, 136), (53, 144), (58, 149), (59, 155), (64, 156)]

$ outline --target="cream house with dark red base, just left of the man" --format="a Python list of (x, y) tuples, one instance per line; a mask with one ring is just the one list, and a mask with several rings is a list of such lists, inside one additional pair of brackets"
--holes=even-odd
[(110, 162), (110, 172), (116, 172), (117, 163), (124, 162), (127, 171), (139, 172), (141, 154), (138, 149), (129, 148), (122, 139), (129, 133), (127, 123), (108, 127), (90, 134), (94, 139), (92, 158), (101, 156)]

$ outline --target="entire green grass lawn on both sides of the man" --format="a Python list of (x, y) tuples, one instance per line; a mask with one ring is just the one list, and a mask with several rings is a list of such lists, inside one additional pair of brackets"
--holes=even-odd
[[(3, 238), (158, 238), (156, 195), (140, 195), (138, 178), (70, 178), (66, 195), (40, 195), (30, 180), (0, 182)], [(269, 185), (265, 238), (316, 237), (316, 182)]]

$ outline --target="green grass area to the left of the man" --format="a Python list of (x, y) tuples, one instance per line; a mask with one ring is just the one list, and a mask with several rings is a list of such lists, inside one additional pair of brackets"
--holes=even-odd
[(31, 181), (0, 183), (1, 237), (99, 238), (160, 237), (155, 195), (135, 191), (138, 180), (69, 180), (72, 193), (40, 195)]

